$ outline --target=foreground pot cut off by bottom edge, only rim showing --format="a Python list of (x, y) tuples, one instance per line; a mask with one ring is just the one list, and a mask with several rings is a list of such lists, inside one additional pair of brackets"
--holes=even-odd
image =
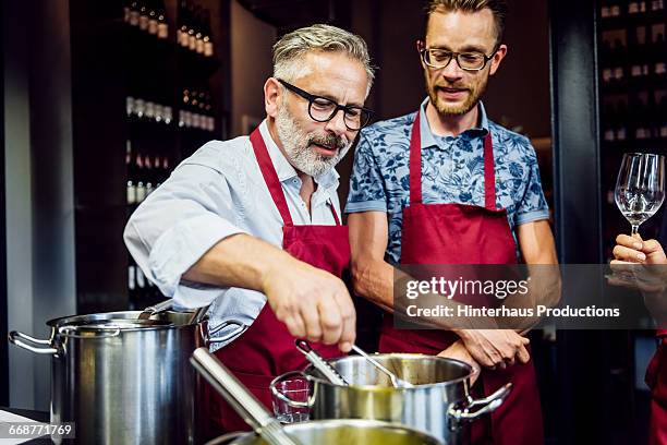
[[(401, 425), (374, 420), (317, 420), (284, 425), (303, 445), (437, 445), (435, 437)], [(255, 433), (231, 433), (206, 445), (264, 445)]]

